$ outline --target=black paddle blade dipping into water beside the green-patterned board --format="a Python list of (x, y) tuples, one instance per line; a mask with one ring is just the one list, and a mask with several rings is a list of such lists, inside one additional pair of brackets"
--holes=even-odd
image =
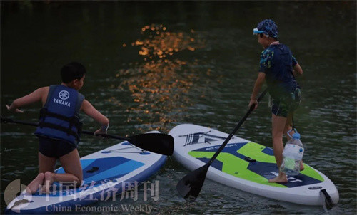
[(201, 192), (209, 165), (206, 164), (198, 169), (186, 174), (176, 185), (178, 193), (186, 201), (195, 201)]

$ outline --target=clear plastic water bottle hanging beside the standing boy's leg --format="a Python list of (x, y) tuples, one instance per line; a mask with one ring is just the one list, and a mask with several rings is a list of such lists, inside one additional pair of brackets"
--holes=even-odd
[[(289, 132), (291, 132), (291, 130), (288, 131), (288, 135), (291, 137)], [(287, 175), (298, 175), (300, 173), (300, 162), (302, 159), (303, 143), (300, 140), (300, 134), (296, 131), (291, 137), (291, 140), (286, 142), (280, 171)]]

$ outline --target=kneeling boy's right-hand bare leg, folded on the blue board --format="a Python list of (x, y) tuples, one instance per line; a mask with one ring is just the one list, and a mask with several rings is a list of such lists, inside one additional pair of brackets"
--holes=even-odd
[(64, 168), (64, 174), (54, 172), (45, 173), (46, 193), (49, 193), (49, 188), (54, 182), (73, 182), (74, 187), (79, 187), (83, 179), (81, 162), (79, 160), (78, 150), (75, 149), (69, 154), (59, 158), (59, 161)]

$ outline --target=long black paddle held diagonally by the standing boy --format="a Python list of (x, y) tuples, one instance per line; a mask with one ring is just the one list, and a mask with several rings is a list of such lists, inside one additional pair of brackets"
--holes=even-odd
[[(264, 90), (261, 95), (259, 95), (259, 98), (257, 99), (258, 102), (264, 97), (268, 89)], [(209, 160), (209, 162), (202, 167), (199, 167), (198, 169), (194, 170), (193, 172), (190, 172), (186, 174), (185, 177), (183, 177), (176, 185), (176, 189), (178, 193), (186, 199), (186, 201), (195, 201), (198, 194), (201, 192), (201, 188), (203, 186), (204, 180), (206, 179), (206, 174), (208, 171), (208, 167), (211, 166), (213, 163), (214, 159), (218, 157), (218, 154), (223, 150), (223, 148), (227, 145), (229, 140), (231, 140), (231, 137), (236, 133), (236, 131), (241, 127), (243, 122), (246, 120), (248, 115), (251, 114), (251, 112), (254, 110), (255, 105), (251, 105), (249, 108), (248, 112), (246, 112), (246, 115), (244, 115), (243, 118), (238, 122), (236, 127), (234, 127), (233, 131), (231, 132), (230, 135), (224, 140), (223, 144), (219, 149), (216, 151), (215, 154), (213, 154), (213, 157)]]

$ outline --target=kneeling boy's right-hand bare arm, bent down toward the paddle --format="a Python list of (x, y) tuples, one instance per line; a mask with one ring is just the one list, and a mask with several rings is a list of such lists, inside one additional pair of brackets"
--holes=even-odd
[(83, 103), (81, 105), (81, 110), (83, 110), (83, 112), (86, 115), (89, 115), (94, 120), (96, 120), (96, 122), (99, 122), (101, 124), (101, 128), (99, 128), (99, 130), (96, 130), (96, 132), (94, 132), (94, 134), (97, 134), (97, 133), (106, 134), (106, 131), (108, 130), (108, 127), (109, 127), (109, 120), (106, 116), (102, 115), (101, 112), (96, 110), (96, 108), (94, 108), (93, 105), (91, 105), (91, 103), (89, 103), (88, 100), (83, 101)]

